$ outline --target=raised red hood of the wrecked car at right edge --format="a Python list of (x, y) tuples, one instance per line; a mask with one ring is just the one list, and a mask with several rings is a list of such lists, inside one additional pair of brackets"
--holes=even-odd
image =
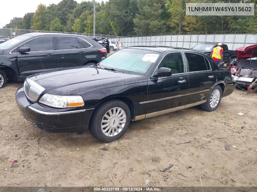
[(251, 55), (252, 57), (257, 57), (257, 44), (236, 48), (237, 59), (249, 59)]

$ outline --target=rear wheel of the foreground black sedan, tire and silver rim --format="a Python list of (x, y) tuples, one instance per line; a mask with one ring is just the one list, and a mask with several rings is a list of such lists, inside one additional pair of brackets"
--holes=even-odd
[[(218, 102), (215, 98), (219, 99)], [(201, 108), (205, 111), (215, 111), (221, 103), (221, 98), (222, 98), (221, 86), (216, 85), (214, 88), (210, 89), (210, 94), (207, 98), (207, 102), (203, 103), (201, 105)], [(216, 100), (216, 104), (211, 103), (211, 99), (213, 99), (214, 101)]]

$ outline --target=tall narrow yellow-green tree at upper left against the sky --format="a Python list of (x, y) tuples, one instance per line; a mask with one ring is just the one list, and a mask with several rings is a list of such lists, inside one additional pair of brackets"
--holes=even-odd
[(43, 30), (46, 27), (45, 24), (45, 10), (46, 6), (40, 3), (37, 6), (36, 12), (33, 15), (33, 20), (32, 20), (32, 26), (31, 29), (33, 30)]

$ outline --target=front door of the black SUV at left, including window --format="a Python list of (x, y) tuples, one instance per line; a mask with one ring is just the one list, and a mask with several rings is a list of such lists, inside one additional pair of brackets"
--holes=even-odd
[(17, 54), (21, 76), (44, 72), (56, 68), (55, 37), (38, 37), (18, 47), (29, 47), (30, 52)]

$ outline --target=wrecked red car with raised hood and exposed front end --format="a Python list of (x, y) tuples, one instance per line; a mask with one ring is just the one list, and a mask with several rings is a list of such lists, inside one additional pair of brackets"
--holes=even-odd
[[(236, 59), (230, 63), (233, 81), (239, 87), (248, 87), (248, 92), (257, 91), (257, 44), (236, 49)], [(254, 90), (251, 91), (251, 89)]]

